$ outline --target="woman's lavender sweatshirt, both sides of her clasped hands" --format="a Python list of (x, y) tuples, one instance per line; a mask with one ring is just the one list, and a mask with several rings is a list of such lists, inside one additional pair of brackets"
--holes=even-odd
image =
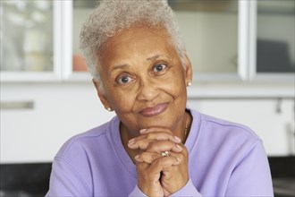
[[(190, 110), (185, 142), (190, 181), (173, 196), (274, 196), (262, 141), (249, 128)], [(122, 146), (120, 120), (67, 141), (57, 153), (46, 196), (143, 196)]]

